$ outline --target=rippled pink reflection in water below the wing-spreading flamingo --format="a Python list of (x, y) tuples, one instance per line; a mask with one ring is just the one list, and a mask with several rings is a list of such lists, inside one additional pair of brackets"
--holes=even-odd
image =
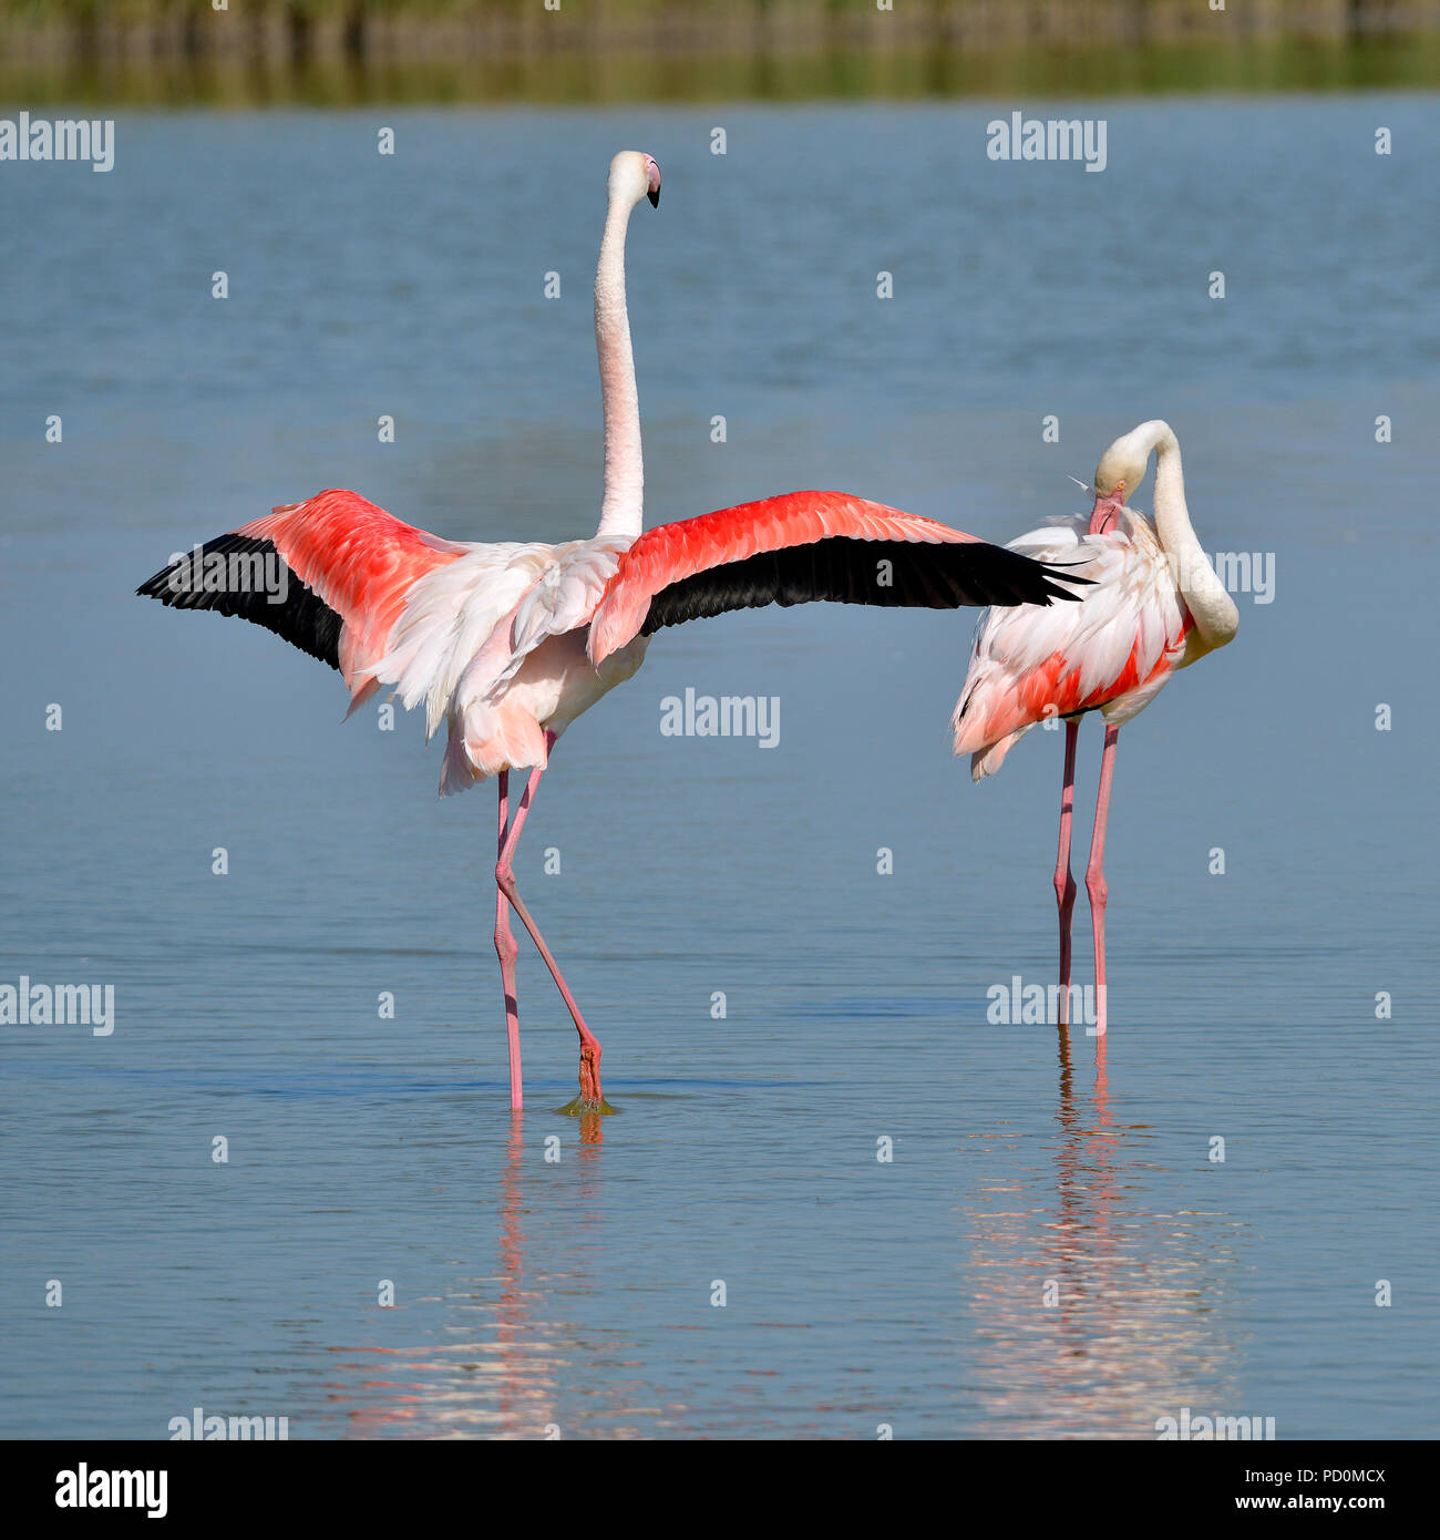
[[(602, 1123), (598, 1116), (581, 1120), (581, 1180), (571, 1224), (602, 1224)], [(413, 1348), (337, 1349), (343, 1378), (331, 1386), (330, 1401), (343, 1408), (347, 1437), (558, 1437), (573, 1431), (561, 1426), (558, 1391), (562, 1377), (576, 1374), (587, 1375), (587, 1434), (604, 1429), (608, 1437), (641, 1437), (625, 1406), (628, 1386), (596, 1372), (594, 1348), (582, 1340), (578, 1323), (550, 1314), (565, 1297), (593, 1289), (594, 1280), (576, 1247), (565, 1247), (564, 1274), (533, 1261), (525, 1190), (536, 1153), (525, 1147), (524, 1127), (525, 1115), (514, 1113), (501, 1173), (499, 1274), (464, 1280), (439, 1300), (424, 1301), (444, 1309), (439, 1340)], [(548, 1212), (547, 1227), (554, 1226)], [(477, 1331), (476, 1318), (488, 1318), (488, 1324)], [(427, 1329), (427, 1335), (433, 1332)], [(636, 1409), (644, 1415), (655, 1411)]]

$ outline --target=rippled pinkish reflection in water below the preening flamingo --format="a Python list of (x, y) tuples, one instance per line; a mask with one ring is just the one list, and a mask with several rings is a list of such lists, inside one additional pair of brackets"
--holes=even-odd
[[(993, 1204), (972, 1217), (975, 1432), (1154, 1438), (1181, 1406), (1234, 1406), (1221, 1311), (1232, 1257), (1214, 1234), (1224, 1221), (1137, 1201), (1146, 1133), (1112, 1123), (1104, 1036), (1086, 1098), (1061, 1027), (1057, 1121), (1047, 1201), (1027, 1201), (1040, 1181), (1026, 1163), (990, 1180)], [(1009, 1132), (980, 1137), (995, 1155), (1015, 1147)]]

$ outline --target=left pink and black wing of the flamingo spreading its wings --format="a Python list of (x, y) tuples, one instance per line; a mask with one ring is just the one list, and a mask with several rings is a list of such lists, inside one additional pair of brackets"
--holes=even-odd
[(411, 585), (468, 550), (331, 490), (206, 541), (136, 593), (283, 636), (340, 671), (353, 710), (377, 688), (360, 671), (383, 656)]

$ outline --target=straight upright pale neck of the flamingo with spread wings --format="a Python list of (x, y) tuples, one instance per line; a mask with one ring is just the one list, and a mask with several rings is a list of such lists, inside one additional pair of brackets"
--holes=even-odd
[(630, 213), (624, 199), (610, 199), (601, 260), (594, 270), (594, 346), (605, 408), (605, 494), (598, 533), (635, 537), (644, 525), (645, 460), (630, 316), (625, 313), (625, 226)]

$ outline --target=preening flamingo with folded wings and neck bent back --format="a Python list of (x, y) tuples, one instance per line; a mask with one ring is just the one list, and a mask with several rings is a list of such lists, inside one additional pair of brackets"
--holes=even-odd
[[(1155, 451), (1155, 516), (1124, 499), (1144, 480)], [(976, 781), (993, 775), (1036, 722), (1066, 721), (1064, 784), (1060, 793), (1060, 1023), (1069, 1021), (1070, 815), (1075, 807), (1075, 742), (1080, 718), (1106, 721), (1095, 801), (1095, 832), (1086, 867), (1095, 938), (1095, 1032), (1106, 1030), (1104, 836), (1120, 728), (1143, 711), (1177, 668), (1224, 647), (1240, 613), (1195, 537), (1184, 504), (1180, 440), (1166, 422), (1143, 422), (1118, 437), (1095, 471), (1089, 516), (1032, 530), (1010, 542), (1043, 562), (1078, 562), (1093, 579), (1080, 604), (1049, 610), (990, 610), (980, 618), (970, 668), (950, 727), (955, 753), (970, 755)]]

